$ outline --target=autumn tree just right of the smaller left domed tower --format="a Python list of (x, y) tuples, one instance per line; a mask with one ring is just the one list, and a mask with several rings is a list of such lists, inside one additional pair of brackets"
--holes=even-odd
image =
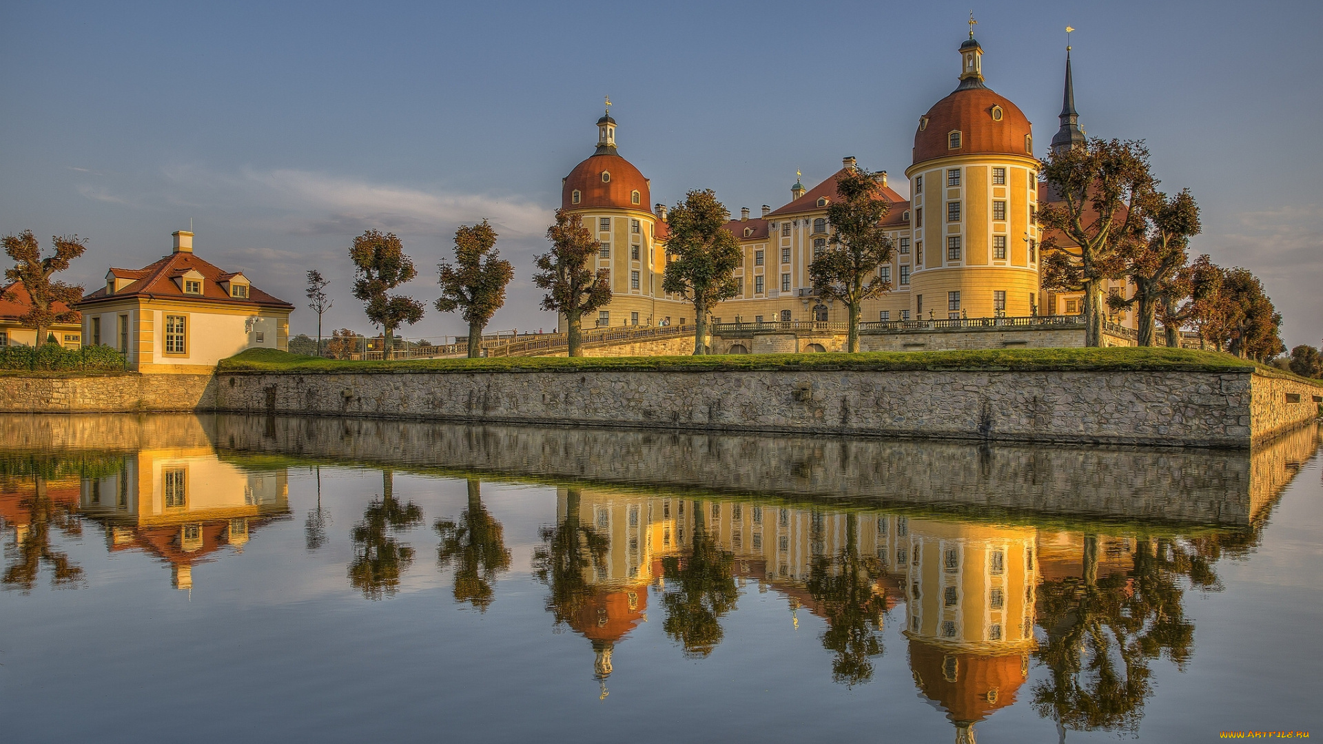
[(667, 266), (662, 290), (693, 303), (693, 353), (706, 353), (708, 314), (740, 291), (734, 270), (744, 258), (736, 236), (725, 229), (730, 212), (712, 189), (691, 191), (671, 209)]

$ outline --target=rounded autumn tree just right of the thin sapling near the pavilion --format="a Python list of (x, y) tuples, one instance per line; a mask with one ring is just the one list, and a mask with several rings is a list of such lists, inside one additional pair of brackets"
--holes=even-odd
[(401, 324), (413, 326), (422, 320), (423, 304), (411, 297), (390, 294), (390, 290), (418, 275), (413, 259), (405, 256), (405, 246), (394, 233), (366, 230), (353, 238), (349, 248), (355, 275), (353, 297), (363, 301), (368, 320), (381, 326), (385, 344), (382, 359), (390, 359), (394, 332)]

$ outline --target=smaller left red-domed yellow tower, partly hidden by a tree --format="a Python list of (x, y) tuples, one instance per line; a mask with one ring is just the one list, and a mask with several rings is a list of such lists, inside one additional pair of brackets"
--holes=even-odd
[(683, 319), (685, 306), (664, 299), (662, 293), (665, 212), (660, 204), (656, 214), (648, 210), (648, 187), (643, 173), (617, 151), (615, 119), (607, 109), (597, 120), (597, 150), (561, 180), (561, 209), (579, 214), (602, 244), (593, 269), (611, 273), (614, 297), (598, 318), (583, 318), (585, 330), (594, 324), (656, 326)]

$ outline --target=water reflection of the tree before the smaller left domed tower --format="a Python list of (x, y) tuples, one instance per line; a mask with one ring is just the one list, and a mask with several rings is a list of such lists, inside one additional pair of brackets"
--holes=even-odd
[(582, 609), (593, 589), (587, 569), (606, 565), (606, 552), (611, 540), (597, 534), (579, 518), (579, 491), (565, 492), (565, 518), (554, 527), (541, 530), (542, 544), (533, 549), (533, 576), (548, 585), (546, 609), (556, 625), (569, 620)]

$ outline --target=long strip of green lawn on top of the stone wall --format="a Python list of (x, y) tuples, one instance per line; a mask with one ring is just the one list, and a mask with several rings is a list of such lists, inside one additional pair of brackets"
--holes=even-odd
[(516, 356), (497, 359), (415, 359), (340, 361), (261, 348), (221, 361), (220, 372), (577, 372), (586, 369), (1170, 369), (1246, 371), (1291, 376), (1226, 353), (1174, 348), (1015, 348), (979, 351), (888, 351), (868, 353), (742, 353), (713, 356)]

